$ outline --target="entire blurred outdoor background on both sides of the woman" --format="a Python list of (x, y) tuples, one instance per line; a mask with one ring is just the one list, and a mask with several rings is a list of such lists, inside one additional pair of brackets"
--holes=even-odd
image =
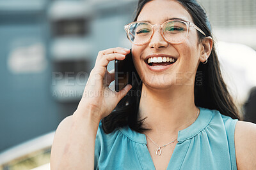
[[(211, 21), (228, 89), (253, 122), (256, 1), (199, 2)], [(133, 21), (137, 3), (0, 0), (0, 169), (50, 169), (54, 132), (76, 110), (97, 53), (131, 47), (124, 25)]]

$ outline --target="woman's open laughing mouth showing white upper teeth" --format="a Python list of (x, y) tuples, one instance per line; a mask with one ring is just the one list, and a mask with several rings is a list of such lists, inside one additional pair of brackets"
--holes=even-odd
[(174, 59), (172, 57), (150, 57), (145, 62), (148, 64), (148, 66), (153, 67), (161, 67), (161, 66), (168, 66), (170, 64), (173, 64), (177, 61), (177, 59)]

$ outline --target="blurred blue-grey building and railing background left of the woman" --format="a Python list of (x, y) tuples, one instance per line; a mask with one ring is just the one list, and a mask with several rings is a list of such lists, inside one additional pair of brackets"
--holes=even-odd
[(0, 169), (32, 168), (45, 160), (33, 155), (49, 156), (54, 131), (76, 110), (99, 50), (129, 48), (123, 28), (135, 6), (0, 0)]

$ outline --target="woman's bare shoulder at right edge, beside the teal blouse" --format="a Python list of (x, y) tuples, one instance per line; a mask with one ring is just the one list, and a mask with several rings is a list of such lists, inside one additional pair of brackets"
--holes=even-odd
[(235, 129), (237, 169), (256, 167), (256, 124), (238, 121)]

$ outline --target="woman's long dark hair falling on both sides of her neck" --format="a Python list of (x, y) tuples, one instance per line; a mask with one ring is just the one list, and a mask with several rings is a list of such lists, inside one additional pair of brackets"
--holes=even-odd
[[(143, 6), (149, 1), (140, 0), (138, 2), (134, 21), (137, 20)], [(211, 25), (202, 6), (200, 6), (196, 0), (177, 1), (189, 12), (195, 25), (202, 29), (206, 36), (212, 37)], [(198, 34), (198, 43), (204, 38), (204, 35)], [(136, 69), (133, 69), (135, 76), (132, 81), (132, 89), (117, 104), (115, 110), (113, 110), (108, 117), (102, 119), (102, 127), (106, 133), (113, 132), (117, 127), (124, 127), (125, 125), (129, 125), (132, 130), (137, 132), (147, 131), (147, 129), (143, 128), (143, 120), (145, 120), (145, 118), (138, 120), (138, 106), (140, 104), (142, 83)], [(230, 96), (227, 90), (227, 85), (222, 78), (220, 63), (214, 43), (207, 64), (200, 63), (198, 66), (194, 89), (196, 106), (218, 110), (222, 115), (227, 115), (228, 117), (237, 118), (239, 120), (241, 119), (232, 96)]]

